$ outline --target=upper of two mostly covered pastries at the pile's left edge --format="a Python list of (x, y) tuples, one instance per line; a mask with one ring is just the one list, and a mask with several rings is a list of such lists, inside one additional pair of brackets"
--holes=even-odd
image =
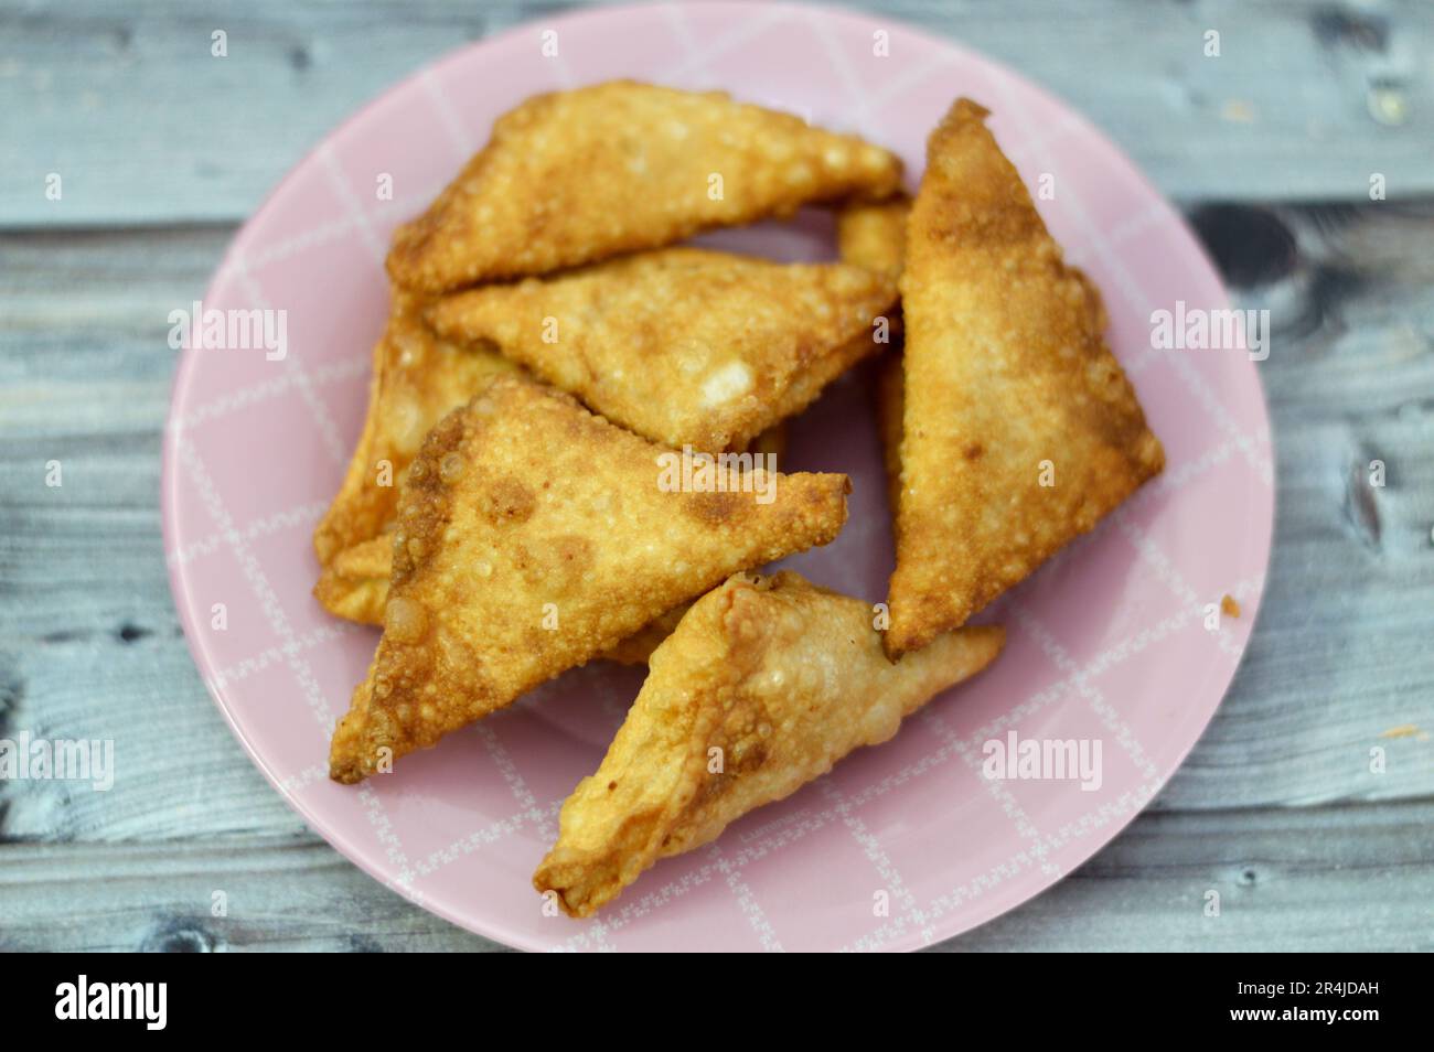
[(403, 473), (445, 413), (472, 398), (488, 376), (518, 371), (490, 344), (440, 340), (423, 321), (426, 305), (393, 290), (389, 324), (373, 350), (369, 416), (343, 486), (314, 530), (321, 566), (393, 525)]

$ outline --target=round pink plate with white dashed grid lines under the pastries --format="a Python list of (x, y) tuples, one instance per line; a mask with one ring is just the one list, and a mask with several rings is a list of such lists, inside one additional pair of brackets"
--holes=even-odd
[[(902, 153), (912, 186), (949, 103), (984, 102), (1032, 191), (1054, 188), (1041, 212), (1104, 290), (1110, 340), (1169, 466), (992, 608), (1011, 632), (991, 671), (895, 741), (660, 863), (598, 920), (574, 922), (545, 916), (529, 879), (641, 672), (595, 662), (393, 775), (336, 785), (328, 732), (377, 631), (313, 601), (310, 532), (363, 420), (390, 232), (499, 113), (611, 77), (723, 87), (860, 132)], [(380, 193), (390, 178), (391, 199)], [(832, 251), (822, 214), (713, 239), (783, 258)], [(1243, 351), (1152, 350), (1152, 312), (1177, 301), (1228, 307), (1172, 206), (1077, 113), (952, 43), (777, 4), (624, 7), (522, 26), (364, 107), (234, 239), (204, 305), (287, 311), (287, 354), (182, 354), (163, 477), (175, 602), (205, 682), (264, 774), (334, 847), (457, 924), (528, 949), (925, 946), (1025, 902), (1114, 837), (1199, 738), (1245, 649), (1273, 520), (1269, 421)], [(792, 565), (879, 601), (892, 537), (869, 380), (858, 370), (793, 424), (784, 466), (853, 480), (846, 530)], [(1207, 605), (1226, 593), (1243, 613), (1212, 631)], [(1100, 741), (1098, 788), (985, 778), (984, 744), (1011, 731)]]

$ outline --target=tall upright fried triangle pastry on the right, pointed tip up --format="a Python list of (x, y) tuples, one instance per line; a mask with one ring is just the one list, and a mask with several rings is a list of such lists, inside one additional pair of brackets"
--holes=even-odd
[(932, 133), (906, 231), (892, 656), (964, 623), (1164, 463), (1090, 285), (985, 116), (962, 99)]

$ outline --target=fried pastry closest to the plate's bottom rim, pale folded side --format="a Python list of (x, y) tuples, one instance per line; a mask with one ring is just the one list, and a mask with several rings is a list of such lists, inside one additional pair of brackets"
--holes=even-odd
[(592, 914), (657, 859), (895, 735), (1002, 641), (999, 628), (968, 628), (892, 665), (865, 602), (790, 572), (733, 576), (652, 654), (601, 767), (562, 805), (533, 886), (571, 916)]

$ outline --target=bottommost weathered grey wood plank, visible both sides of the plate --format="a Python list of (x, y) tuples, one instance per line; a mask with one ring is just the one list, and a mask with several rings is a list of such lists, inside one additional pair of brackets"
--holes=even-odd
[[(1147, 814), (1070, 879), (936, 949), (1428, 952), (1431, 828), (1428, 801)], [(9, 844), (3, 857), (0, 950), (498, 949), (311, 837)], [(212, 916), (215, 891), (228, 916)]]

